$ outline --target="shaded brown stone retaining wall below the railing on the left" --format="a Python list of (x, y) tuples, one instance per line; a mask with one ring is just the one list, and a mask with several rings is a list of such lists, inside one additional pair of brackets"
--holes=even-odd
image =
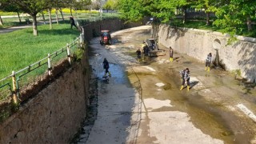
[[(0, 125), (0, 143), (66, 143), (86, 116), (89, 63), (74, 62)], [(57, 67), (58, 67), (57, 66)], [(62, 70), (58, 67), (59, 70)], [(56, 67), (53, 68), (56, 70)]]

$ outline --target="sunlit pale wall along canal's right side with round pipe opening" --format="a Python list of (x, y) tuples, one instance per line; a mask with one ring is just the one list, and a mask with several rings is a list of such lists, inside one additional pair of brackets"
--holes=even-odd
[[(161, 25), (155, 27), (158, 42), (163, 46), (172, 46), (174, 51), (187, 54), (205, 62), (206, 55), (216, 56), (213, 42), (218, 38), (221, 48), (218, 50), (219, 58), (226, 70), (241, 70), (242, 77), (253, 82), (256, 79), (256, 38), (239, 36), (239, 41), (226, 46), (228, 35), (209, 30), (172, 28)], [(203, 64), (202, 64), (203, 66)]]

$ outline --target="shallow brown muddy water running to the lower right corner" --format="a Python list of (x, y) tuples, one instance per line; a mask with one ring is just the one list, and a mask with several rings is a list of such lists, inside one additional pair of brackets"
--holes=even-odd
[[(133, 75), (131, 75), (132, 77)], [(158, 76), (149, 74), (138, 74), (142, 82), (143, 98), (156, 98), (159, 100), (170, 100), (174, 107), (163, 107), (159, 111), (173, 110), (181, 111), (190, 115), (190, 120), (194, 126), (202, 130), (204, 134), (209, 134), (212, 138), (222, 139), (225, 143), (250, 143), (249, 133), (242, 126), (231, 126), (240, 120), (226, 111), (226, 108), (220, 104), (206, 102), (197, 92), (186, 89), (180, 91), (180, 79), (177, 74), (166, 75), (161, 70)], [(132, 79), (132, 78), (131, 78)], [(164, 82), (170, 85), (169, 90), (157, 92), (156, 82)], [(237, 131), (237, 134), (234, 134)], [(239, 133), (240, 131), (240, 133)]]

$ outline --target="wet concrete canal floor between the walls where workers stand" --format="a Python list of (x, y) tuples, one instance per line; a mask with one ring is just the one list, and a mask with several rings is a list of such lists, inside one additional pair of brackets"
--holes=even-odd
[[(98, 114), (78, 143), (256, 143), (255, 85), (174, 53), (139, 63), (135, 51), (150, 26), (112, 34), (114, 44), (90, 42), (90, 65), (98, 77)], [(174, 48), (175, 52), (175, 48)], [(112, 76), (103, 81), (103, 58)], [(179, 70), (190, 68), (191, 88), (179, 90)]]

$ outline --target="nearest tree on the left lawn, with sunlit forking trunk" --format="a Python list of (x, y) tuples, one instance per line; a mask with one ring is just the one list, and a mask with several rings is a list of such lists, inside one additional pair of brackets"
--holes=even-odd
[(51, 0), (6, 0), (11, 5), (18, 6), (23, 12), (33, 18), (33, 34), (38, 35), (37, 14), (49, 7)]

